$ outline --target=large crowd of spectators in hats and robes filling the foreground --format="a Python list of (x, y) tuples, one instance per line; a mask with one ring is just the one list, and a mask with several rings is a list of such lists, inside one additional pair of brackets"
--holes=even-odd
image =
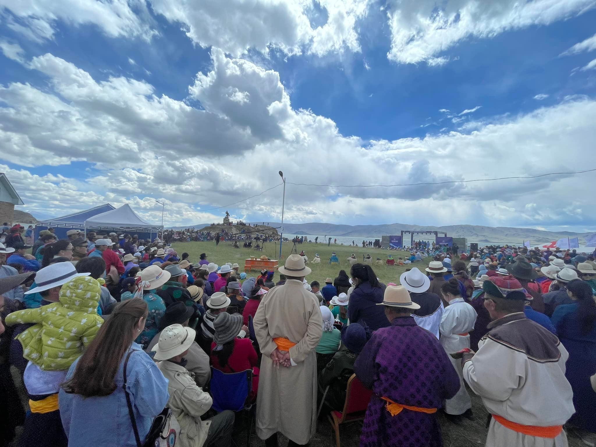
[(565, 446), (565, 424), (594, 445), (594, 254), (426, 249), (388, 284), (387, 261), (353, 255), (319, 283), (304, 253), (249, 276), (160, 239), (69, 233), (0, 244), (0, 443), (23, 426), (21, 446), (139, 446), (162, 415), (176, 445), (229, 446), (213, 368), (250, 372), (268, 447), (307, 445), (350, 380), (372, 392), (363, 447), (441, 446), (439, 411), (473, 418), (470, 392), (487, 446)]

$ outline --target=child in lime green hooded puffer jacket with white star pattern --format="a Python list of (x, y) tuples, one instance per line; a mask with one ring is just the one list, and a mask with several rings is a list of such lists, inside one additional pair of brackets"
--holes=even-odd
[(94, 278), (76, 277), (62, 286), (57, 303), (8, 315), (8, 326), (37, 323), (17, 337), (24, 358), (44, 371), (68, 370), (103, 323), (97, 314), (100, 287)]

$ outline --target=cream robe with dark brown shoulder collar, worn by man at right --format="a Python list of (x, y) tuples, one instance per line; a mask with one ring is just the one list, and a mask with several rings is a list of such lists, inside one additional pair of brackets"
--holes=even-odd
[[(517, 318), (517, 319), (516, 319)], [(474, 393), (482, 398), (486, 409), (508, 421), (526, 426), (563, 425), (575, 412), (573, 391), (565, 377), (565, 362), (569, 353), (552, 335), (542, 327), (525, 318), (522, 312), (512, 313), (502, 320), (501, 327), (517, 330), (520, 338), (528, 344), (555, 346), (557, 355), (535, 358), (526, 353), (527, 348), (502, 336), (489, 332), (478, 343), (478, 352), (464, 355), (463, 374)], [(491, 323), (495, 324), (499, 320)], [(519, 328), (516, 328), (519, 327)], [(489, 325), (489, 328), (491, 326)], [(538, 337), (530, 337), (532, 329), (542, 331)], [(521, 343), (520, 343), (521, 344)], [(539, 348), (536, 350), (544, 350)], [(561, 432), (555, 438), (529, 436), (502, 426), (491, 420), (486, 437), (486, 447), (567, 447), (567, 436)]]

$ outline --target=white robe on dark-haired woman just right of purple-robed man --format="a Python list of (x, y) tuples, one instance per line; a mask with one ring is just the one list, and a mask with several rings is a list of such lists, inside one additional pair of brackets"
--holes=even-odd
[[(458, 352), (465, 347), (470, 347), (470, 336), (467, 334), (474, 329), (476, 324), (476, 311), (465, 302), (463, 298), (456, 298), (449, 302), (449, 306), (443, 311), (439, 325), (439, 342), (449, 355)], [(460, 390), (451, 399), (445, 401), (445, 412), (448, 414), (463, 414), (467, 409), (472, 408), (470, 395), (464, 385), (464, 378), (461, 373), (461, 361), (449, 356), (455, 371), (460, 376)]]

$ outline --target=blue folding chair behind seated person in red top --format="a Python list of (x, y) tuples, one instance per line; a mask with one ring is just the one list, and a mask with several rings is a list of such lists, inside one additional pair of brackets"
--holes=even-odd
[(218, 413), (229, 409), (234, 412), (243, 412), (247, 416), (249, 427), (246, 435), (246, 447), (250, 447), (250, 435), (254, 421), (254, 405), (250, 402), (252, 388), (253, 370), (226, 374), (211, 367), (212, 408)]

